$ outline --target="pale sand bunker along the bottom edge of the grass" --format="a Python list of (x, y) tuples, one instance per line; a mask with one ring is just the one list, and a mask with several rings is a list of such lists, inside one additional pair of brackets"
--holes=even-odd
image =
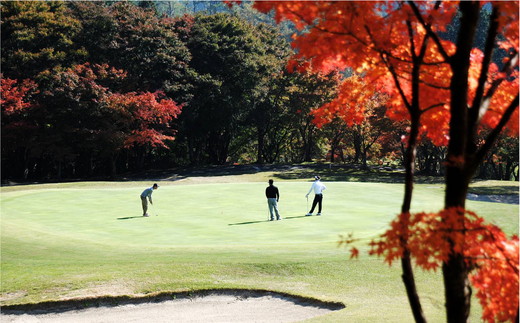
[[(47, 309), (2, 308), (2, 322), (297, 322), (344, 308), (273, 292), (211, 292), (178, 299), (140, 300), (77, 309), (58, 302)], [(175, 297), (177, 297), (175, 295)], [(113, 302), (113, 300), (111, 301)], [(106, 303), (106, 301), (104, 302)]]

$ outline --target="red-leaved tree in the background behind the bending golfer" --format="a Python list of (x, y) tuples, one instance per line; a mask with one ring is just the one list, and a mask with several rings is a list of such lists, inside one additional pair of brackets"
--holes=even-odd
[[(167, 148), (166, 141), (174, 139), (171, 121), (181, 106), (160, 91), (126, 92), (124, 70), (84, 63), (47, 71), (39, 80), (39, 104), (45, 122), (53, 125), (53, 138), (81, 136), (82, 143), (91, 144), (109, 162), (112, 175), (121, 152), (137, 146)], [(74, 146), (59, 143), (63, 151)]]

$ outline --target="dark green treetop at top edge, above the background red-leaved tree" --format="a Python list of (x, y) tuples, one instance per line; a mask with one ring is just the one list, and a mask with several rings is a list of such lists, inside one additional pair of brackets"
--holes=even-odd
[(179, 102), (187, 101), (191, 54), (177, 20), (158, 18), (154, 10), (129, 2), (106, 6), (74, 1), (70, 7), (81, 22), (75, 41), (88, 53), (86, 61), (123, 69), (125, 90), (161, 90)]

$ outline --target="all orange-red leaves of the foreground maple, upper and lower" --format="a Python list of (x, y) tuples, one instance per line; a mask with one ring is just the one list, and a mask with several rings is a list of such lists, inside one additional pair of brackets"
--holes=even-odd
[[(495, 47), (507, 53), (500, 65), (484, 64), (482, 50), (471, 51), (468, 90), (463, 95), (468, 112), (478, 111), (476, 131), (481, 131), (499, 126), (518, 96), (519, 7), (518, 1), (478, 4), (497, 13), (500, 38)], [(370, 95), (360, 93), (372, 87), (387, 94), (390, 118), (410, 120), (411, 111), (418, 112), (419, 133), (437, 145), (448, 144), (451, 99), (457, 91), (451, 79), (459, 70), (450, 61), (456, 45), (441, 33), (455, 18), (458, 1), (257, 1), (255, 8), (274, 11), (278, 21), (290, 20), (301, 30), (293, 35), (297, 54), (290, 68), (325, 72), (351, 68), (363, 75), (362, 82), (345, 80), (337, 98), (314, 112), (319, 123), (332, 115), (350, 123), (362, 121)], [(307, 63), (302, 66), (300, 61)], [(505, 129), (518, 135), (518, 108), (507, 118)], [(463, 168), (466, 160), (450, 156), (448, 163)], [(451, 255), (462, 254), (473, 269), (470, 279), (479, 290), (483, 318), (513, 321), (517, 315), (518, 237), (507, 239), (472, 212), (401, 214), (372, 246), (372, 254), (385, 256), (388, 263), (409, 248), (425, 269), (436, 269)], [(351, 255), (357, 256), (357, 249)]]

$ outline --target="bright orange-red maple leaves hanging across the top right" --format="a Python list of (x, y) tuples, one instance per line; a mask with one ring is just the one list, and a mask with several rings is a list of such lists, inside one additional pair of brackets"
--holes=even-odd
[[(482, 3), (484, 5), (485, 2)], [(518, 48), (518, 3), (494, 3), (502, 13), (499, 17), (500, 31), (504, 41), (500, 45), (506, 50)], [(444, 32), (457, 12), (458, 2), (420, 2), (419, 9), (426, 17), (434, 32)], [(422, 113), (421, 132), (437, 145), (448, 141), (448, 120), (451, 70), (438, 46), (424, 42), (426, 30), (417, 20), (412, 8), (403, 2), (389, 1), (257, 1), (255, 8), (262, 12), (274, 10), (278, 21), (290, 20), (299, 29), (308, 28), (294, 35), (293, 47), (298, 49), (293, 63), (301, 59), (310, 60), (307, 68), (329, 71), (335, 68), (354, 68), (364, 75), (366, 84), (378, 84), (381, 91), (389, 94), (389, 117), (395, 120), (408, 119), (406, 105), (411, 101), (412, 86), (410, 75), (414, 59), (420, 52), (420, 44), (425, 43), (425, 54), (420, 62), (419, 105)], [(516, 26), (516, 27), (515, 27)], [(447, 40), (440, 40), (442, 50), (452, 55), (456, 47)], [(475, 93), (482, 52), (474, 49), (469, 76), (470, 95), (468, 106)], [(516, 65), (516, 63), (515, 63)], [(301, 67), (301, 65), (300, 65)], [(397, 82), (390, 69), (397, 75)], [(490, 108), (482, 118), (482, 125), (494, 127), (518, 90), (517, 72), (512, 69), (499, 73), (496, 64), (491, 64), (486, 90), (493, 82), (500, 84), (492, 97)], [(352, 91), (352, 87), (340, 91)], [(408, 100), (408, 102), (404, 102)], [(332, 110), (345, 109), (336, 101)], [(360, 102), (362, 104), (362, 102)], [(363, 119), (362, 109), (349, 111), (352, 122)], [(518, 110), (508, 123), (508, 130), (518, 134)]]

